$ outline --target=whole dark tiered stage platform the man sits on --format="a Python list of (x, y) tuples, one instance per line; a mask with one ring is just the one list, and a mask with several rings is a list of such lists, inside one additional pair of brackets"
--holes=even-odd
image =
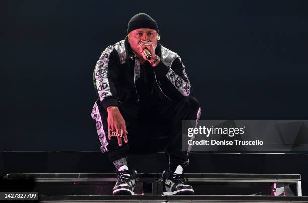
[(114, 166), (99, 152), (3, 152), (0, 170), (7, 179), (0, 187), (39, 192), (42, 202), (308, 202), (307, 158), (192, 153), (185, 175), (196, 195), (162, 196), (165, 154), (131, 155), (131, 166), (139, 170), (136, 195), (112, 196)]

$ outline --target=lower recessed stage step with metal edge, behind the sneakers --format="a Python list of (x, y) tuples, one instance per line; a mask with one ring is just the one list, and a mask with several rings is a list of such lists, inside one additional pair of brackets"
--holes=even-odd
[[(301, 196), (299, 174), (196, 174), (187, 173), (189, 184), (199, 195)], [(26, 173), (7, 174), (7, 180), (33, 180), (42, 195), (111, 195), (114, 173)], [(161, 195), (158, 173), (137, 174), (136, 194)]]

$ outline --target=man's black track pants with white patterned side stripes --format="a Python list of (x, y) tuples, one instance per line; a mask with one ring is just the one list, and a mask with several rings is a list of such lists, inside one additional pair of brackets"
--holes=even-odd
[(188, 164), (188, 153), (182, 151), (181, 123), (182, 120), (197, 120), (200, 117), (200, 105), (194, 97), (186, 96), (169, 103), (119, 103), (119, 110), (128, 131), (128, 143), (122, 138), (122, 146), (118, 145), (116, 137), (108, 140), (108, 114), (99, 100), (92, 111), (101, 150), (107, 152), (110, 161), (127, 157), (127, 150), (140, 154), (165, 151), (170, 165)]

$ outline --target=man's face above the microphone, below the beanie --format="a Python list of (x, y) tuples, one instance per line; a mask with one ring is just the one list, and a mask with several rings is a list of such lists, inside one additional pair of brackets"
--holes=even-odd
[(133, 30), (128, 35), (128, 42), (131, 49), (140, 57), (142, 53), (139, 51), (138, 45), (141, 41), (153, 42), (154, 47), (157, 46), (157, 32), (150, 28), (139, 28)]

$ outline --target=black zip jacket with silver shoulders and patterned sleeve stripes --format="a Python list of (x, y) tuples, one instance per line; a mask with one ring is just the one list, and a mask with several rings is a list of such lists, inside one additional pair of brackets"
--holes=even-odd
[[(155, 52), (161, 58), (161, 62), (153, 67), (154, 86), (159, 92), (159, 99), (173, 101), (188, 96), (191, 86), (180, 56), (159, 43)], [(106, 109), (111, 105), (118, 106), (118, 102), (138, 102), (136, 81), (139, 78), (140, 62), (132, 52), (127, 37), (108, 46), (93, 72), (93, 84), (101, 105)]]

